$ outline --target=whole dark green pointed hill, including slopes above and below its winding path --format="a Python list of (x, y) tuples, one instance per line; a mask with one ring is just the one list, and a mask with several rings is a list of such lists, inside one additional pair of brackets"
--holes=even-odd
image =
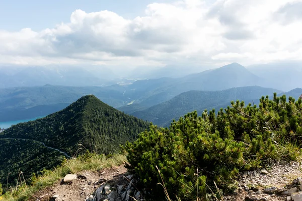
[(69, 156), (86, 150), (117, 152), (120, 144), (134, 141), (148, 126), (94, 95), (83, 96), (64, 110), (0, 133), (0, 183), (6, 183), (12, 172), (9, 181), (15, 184), (19, 168), (26, 178), (32, 172), (49, 169), (61, 162), (63, 152)]

